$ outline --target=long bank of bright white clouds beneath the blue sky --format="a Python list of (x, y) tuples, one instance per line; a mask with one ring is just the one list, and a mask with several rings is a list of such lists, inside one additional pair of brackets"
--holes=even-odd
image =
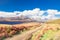
[[(48, 13), (47, 16), (44, 16), (44, 13)], [(34, 20), (40, 21), (41, 19), (59, 19), (59, 17), (56, 17), (55, 15), (60, 15), (60, 11), (48, 9), (48, 10), (40, 10), (39, 8), (35, 8), (33, 10), (24, 10), (24, 11), (14, 11), (14, 12), (3, 12), (0, 11), (0, 17), (15, 17), (15, 16), (21, 16), (29, 17)], [(21, 18), (21, 17), (20, 17)]]

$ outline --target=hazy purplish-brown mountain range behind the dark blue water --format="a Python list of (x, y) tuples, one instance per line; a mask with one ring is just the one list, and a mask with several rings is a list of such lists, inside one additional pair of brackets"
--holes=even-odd
[(0, 17), (0, 21), (9, 21), (9, 22), (30, 22), (32, 19), (24, 16), (16, 17)]

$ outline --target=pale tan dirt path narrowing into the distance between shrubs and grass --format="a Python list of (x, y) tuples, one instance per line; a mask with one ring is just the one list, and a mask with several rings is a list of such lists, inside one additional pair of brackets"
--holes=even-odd
[(36, 32), (37, 30), (41, 30), (42, 28), (43, 27), (38, 27), (38, 28), (36, 28), (34, 30), (27, 31), (27, 32), (25, 32), (23, 34), (16, 35), (16, 36), (14, 36), (12, 38), (8, 38), (8, 39), (5, 39), (5, 40), (28, 40), (32, 36), (32, 34), (34, 32)]

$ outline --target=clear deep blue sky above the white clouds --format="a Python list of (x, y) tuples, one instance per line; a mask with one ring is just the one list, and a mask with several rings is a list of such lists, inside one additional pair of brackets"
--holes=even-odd
[(0, 0), (0, 11), (12, 12), (34, 8), (60, 10), (60, 0)]

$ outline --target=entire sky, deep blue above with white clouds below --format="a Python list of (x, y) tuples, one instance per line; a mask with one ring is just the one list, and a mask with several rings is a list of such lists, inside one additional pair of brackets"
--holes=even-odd
[(60, 0), (0, 0), (0, 17), (60, 19)]

